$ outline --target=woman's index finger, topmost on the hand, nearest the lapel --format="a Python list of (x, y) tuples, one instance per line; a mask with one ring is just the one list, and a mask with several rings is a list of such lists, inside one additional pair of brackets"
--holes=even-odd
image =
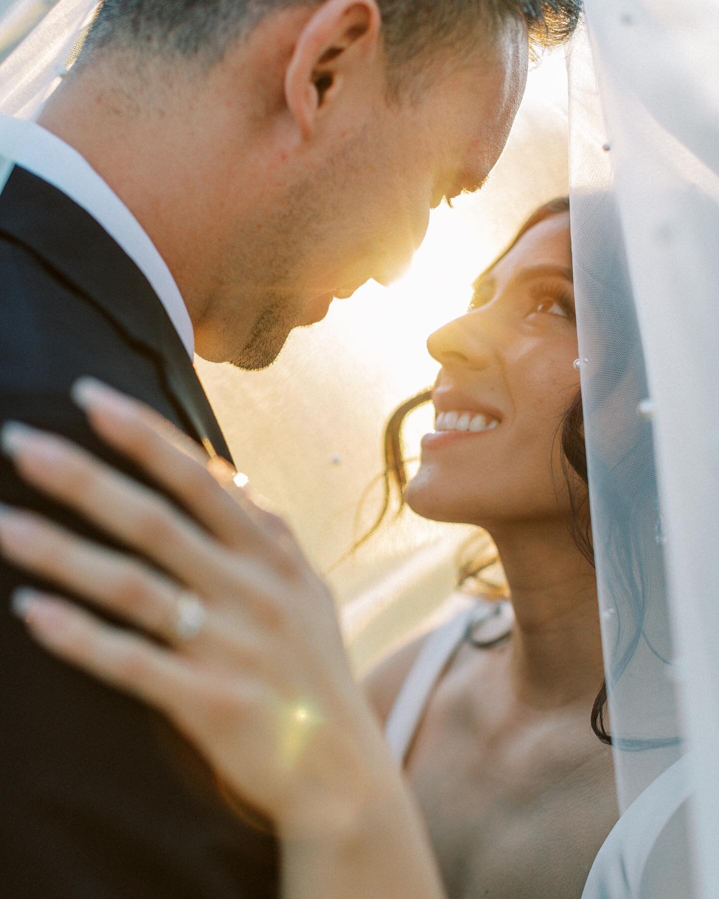
[(262, 525), (261, 510), (235, 488), (237, 472), (211, 446), (204, 452), (154, 409), (94, 378), (77, 381), (73, 397), (103, 440), (164, 485), (227, 546), (246, 543), (250, 521)]

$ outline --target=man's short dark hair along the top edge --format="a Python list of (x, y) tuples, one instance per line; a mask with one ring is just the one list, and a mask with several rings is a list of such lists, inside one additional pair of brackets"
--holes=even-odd
[[(383, 39), (392, 64), (425, 52), (466, 44), (480, 22), (490, 28), (507, 19), (524, 20), (534, 47), (567, 40), (576, 28), (581, 0), (377, 0)], [(265, 16), (318, 0), (104, 0), (87, 49), (112, 45), (221, 58), (228, 44)], [(462, 36), (465, 40), (462, 40)]]

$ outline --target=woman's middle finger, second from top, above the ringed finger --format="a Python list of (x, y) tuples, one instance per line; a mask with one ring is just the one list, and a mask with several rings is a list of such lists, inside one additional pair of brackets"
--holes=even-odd
[(217, 580), (221, 547), (160, 494), (54, 434), (7, 423), (2, 439), (25, 480), (138, 549), (182, 583), (210, 591), (224, 583)]

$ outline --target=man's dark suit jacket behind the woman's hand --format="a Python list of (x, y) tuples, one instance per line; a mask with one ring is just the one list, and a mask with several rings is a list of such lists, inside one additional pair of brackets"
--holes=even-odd
[[(70, 401), (82, 375), (137, 396), (229, 458), (143, 274), (83, 209), (16, 168), (0, 195), (0, 422), (61, 432), (139, 476)], [(6, 458), (0, 502), (100, 537), (31, 491)], [(3, 899), (276, 896), (271, 837), (228, 811), (161, 717), (33, 644), (9, 611), (20, 583), (33, 582), (0, 559)]]

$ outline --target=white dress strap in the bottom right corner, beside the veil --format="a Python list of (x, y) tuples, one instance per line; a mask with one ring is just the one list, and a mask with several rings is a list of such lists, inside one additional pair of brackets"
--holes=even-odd
[(626, 809), (594, 859), (581, 899), (639, 899), (652, 849), (690, 795), (687, 768), (685, 755)]

